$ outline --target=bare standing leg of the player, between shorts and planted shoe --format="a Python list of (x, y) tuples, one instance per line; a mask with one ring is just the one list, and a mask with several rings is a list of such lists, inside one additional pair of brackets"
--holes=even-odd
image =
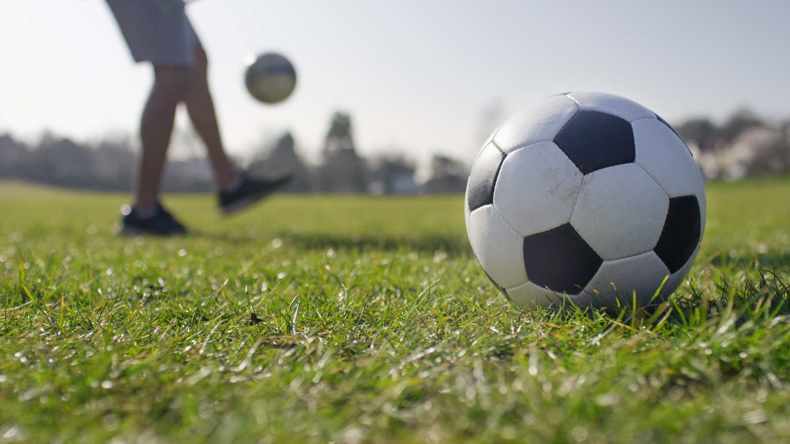
[(190, 68), (155, 66), (154, 74), (156, 80), (140, 124), (143, 147), (135, 186), (137, 201), (134, 207), (143, 213), (156, 205), (167, 145), (173, 131), (175, 107), (186, 94)]

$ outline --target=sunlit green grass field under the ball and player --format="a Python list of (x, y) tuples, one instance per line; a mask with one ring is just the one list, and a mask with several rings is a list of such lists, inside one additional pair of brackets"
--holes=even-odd
[(126, 199), (0, 184), (0, 443), (790, 441), (788, 180), (709, 186), (656, 314), (514, 307), (461, 196)]

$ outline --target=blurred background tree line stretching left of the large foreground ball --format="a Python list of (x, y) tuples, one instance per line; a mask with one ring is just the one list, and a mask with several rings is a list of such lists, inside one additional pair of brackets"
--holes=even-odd
[[(174, 134), (174, 138), (178, 139), (179, 134)], [(134, 143), (129, 137), (90, 145), (47, 133), (37, 145), (31, 146), (9, 134), (0, 135), (0, 179), (23, 179), (85, 190), (130, 190), (134, 158)], [(336, 112), (329, 122), (318, 165), (309, 164), (299, 156), (290, 133), (283, 134), (273, 147), (260, 150), (245, 163), (243, 169), (254, 177), (292, 174), (286, 191), (295, 193), (458, 193), (465, 190), (468, 178), (465, 164), (447, 156), (434, 156), (431, 179), (421, 184), (414, 178), (416, 163), (403, 154), (389, 153), (371, 159), (359, 156), (352, 119), (342, 112)], [(167, 192), (213, 190), (209, 164), (202, 157), (169, 160), (162, 188)]]

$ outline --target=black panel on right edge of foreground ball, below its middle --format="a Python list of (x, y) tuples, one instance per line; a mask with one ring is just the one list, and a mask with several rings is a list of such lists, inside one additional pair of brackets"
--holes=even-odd
[(669, 199), (667, 220), (653, 251), (670, 272), (675, 273), (689, 260), (699, 243), (701, 231), (699, 202), (696, 196)]

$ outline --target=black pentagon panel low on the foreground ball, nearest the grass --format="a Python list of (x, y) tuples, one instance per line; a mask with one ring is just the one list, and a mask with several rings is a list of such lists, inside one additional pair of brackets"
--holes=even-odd
[(589, 284), (601, 262), (570, 224), (524, 238), (529, 280), (553, 292), (575, 295)]

